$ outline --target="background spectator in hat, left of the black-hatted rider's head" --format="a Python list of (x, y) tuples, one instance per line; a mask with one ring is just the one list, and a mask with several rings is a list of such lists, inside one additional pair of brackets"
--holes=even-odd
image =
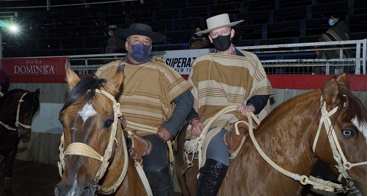
[[(106, 54), (113, 54), (113, 53), (121, 53), (123, 52), (124, 48), (124, 43), (121, 39), (119, 39), (118, 37), (116, 37), (114, 35), (114, 32), (117, 28), (116, 25), (109, 25), (108, 28), (108, 34), (110, 35), (110, 38), (108, 38), (108, 43), (107, 43), (107, 47), (106, 47)], [(116, 58), (117, 56), (115, 56)], [(107, 64), (114, 61), (114, 59), (105, 59), (103, 61), (103, 63)]]

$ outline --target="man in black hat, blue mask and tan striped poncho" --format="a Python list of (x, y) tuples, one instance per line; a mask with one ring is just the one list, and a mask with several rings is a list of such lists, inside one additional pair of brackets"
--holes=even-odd
[[(131, 24), (128, 29), (117, 29), (115, 36), (126, 39), (128, 54), (100, 67), (95, 75), (110, 79), (119, 66), (125, 65), (120, 94), (115, 98), (126, 120), (158, 128), (156, 134), (137, 131), (153, 145), (151, 153), (142, 157), (142, 166), (153, 196), (173, 196), (165, 142), (176, 136), (190, 113), (191, 85), (168, 65), (149, 58), (152, 43), (166, 41), (151, 26)], [(125, 128), (123, 120), (121, 124), (125, 131), (131, 130)]]

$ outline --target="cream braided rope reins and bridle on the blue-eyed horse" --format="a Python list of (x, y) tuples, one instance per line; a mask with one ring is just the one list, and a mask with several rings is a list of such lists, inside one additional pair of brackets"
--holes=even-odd
[[(322, 97), (321, 97), (321, 102), (322, 102)], [(185, 142), (185, 146), (184, 146), (184, 150), (185, 150), (185, 156), (186, 156), (186, 163), (187, 163), (187, 167), (184, 170), (184, 172), (192, 167), (192, 161), (194, 159), (194, 153), (198, 153), (199, 154), (199, 169), (200, 169), (200, 165), (201, 165), (201, 157), (202, 157), (202, 144), (203, 144), (203, 140), (205, 138), (206, 132), (208, 130), (208, 128), (210, 127), (211, 123), (213, 123), (220, 115), (223, 115), (227, 112), (236, 110), (235, 109), (236, 106), (232, 105), (232, 106), (227, 106), (226, 108), (222, 109), (221, 111), (219, 111), (205, 126), (204, 129), (202, 131), (202, 133), (200, 134), (200, 136), (198, 138), (195, 138), (193, 140), (190, 141), (186, 141)], [(333, 151), (333, 155), (334, 155), (334, 159), (335, 161), (338, 163), (338, 166), (335, 166), (338, 171), (340, 172), (340, 176), (338, 178), (339, 181), (341, 181), (341, 176), (343, 176), (346, 181), (347, 181), (347, 186), (341, 185), (341, 184), (336, 184), (333, 183), (331, 181), (326, 181), (320, 178), (316, 178), (314, 176), (305, 176), (305, 175), (299, 175), (297, 173), (292, 173), (289, 172), (287, 170), (284, 170), (283, 168), (281, 168), (280, 166), (278, 166), (276, 163), (274, 163), (265, 153), (264, 151), (261, 149), (261, 147), (259, 146), (259, 144), (257, 143), (254, 135), (253, 135), (253, 122), (255, 121), (258, 125), (260, 125), (259, 120), (257, 119), (257, 117), (252, 113), (252, 112), (247, 112), (246, 111), (246, 115), (247, 118), (249, 120), (249, 135), (250, 138), (252, 140), (253, 145), (255, 146), (256, 150), (258, 151), (258, 153), (261, 155), (261, 157), (270, 165), (272, 166), (276, 171), (294, 179), (299, 181), (301, 184), (306, 185), (306, 184), (311, 184), (313, 185), (314, 189), (320, 189), (323, 191), (329, 191), (329, 192), (333, 192), (333, 193), (341, 193), (341, 192), (348, 192), (348, 191), (355, 191), (355, 189), (353, 188), (353, 181), (352, 179), (349, 177), (349, 175), (347, 174), (346, 170), (351, 169), (354, 166), (361, 166), (361, 165), (366, 165), (366, 162), (360, 162), (360, 163), (349, 163), (346, 161), (346, 158), (344, 156), (344, 153), (340, 147), (340, 144), (338, 142), (338, 139), (336, 137), (335, 134), (335, 130), (334, 127), (331, 124), (330, 121), (330, 116), (332, 114), (334, 114), (337, 111), (338, 107), (334, 108), (333, 110), (331, 110), (330, 112), (326, 111), (326, 103), (324, 102), (321, 111), (322, 111), (322, 115), (321, 115), (321, 120), (320, 120), (320, 124), (319, 124), (319, 128), (318, 128), (318, 132), (316, 134), (315, 137), (315, 141), (313, 144), (313, 151), (315, 153), (315, 148), (316, 148), (316, 144), (317, 144), (317, 140), (319, 138), (320, 135), (320, 131), (321, 131), (321, 126), (322, 123), (325, 126), (326, 132), (327, 134), (329, 134), (329, 131), (331, 131), (331, 137), (329, 137), (329, 141), (330, 141), (330, 146), (332, 148)], [(188, 154), (192, 153), (192, 159), (189, 160), (188, 159)], [(343, 160), (343, 163), (341, 162), (341, 160)], [(198, 174), (198, 176), (200, 175), (200, 173)]]

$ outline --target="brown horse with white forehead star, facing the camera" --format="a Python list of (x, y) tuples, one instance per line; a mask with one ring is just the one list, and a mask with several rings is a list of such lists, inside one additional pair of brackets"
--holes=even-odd
[[(120, 66), (107, 82), (93, 77), (79, 79), (67, 65), (70, 92), (60, 112), (64, 129), (59, 163), (62, 178), (55, 186), (55, 196), (94, 196), (101, 190), (115, 196), (147, 195), (133, 161), (123, 152), (126, 143), (114, 98), (123, 81), (123, 69), (124, 65)], [(126, 165), (124, 158), (128, 158)], [(124, 167), (128, 167), (126, 176), (122, 183), (116, 183)], [(109, 193), (106, 187), (112, 187)]]

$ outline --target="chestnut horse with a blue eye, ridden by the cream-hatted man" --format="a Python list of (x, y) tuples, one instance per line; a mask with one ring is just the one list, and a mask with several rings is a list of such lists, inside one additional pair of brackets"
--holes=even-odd
[[(328, 139), (332, 136), (326, 133), (323, 125), (313, 152), (324, 104), (328, 112), (338, 107), (330, 119), (348, 164), (366, 162), (367, 110), (350, 92), (345, 74), (328, 79), (320, 89), (290, 98), (277, 106), (254, 131), (261, 149), (278, 166), (289, 172), (308, 176), (319, 159), (332, 172), (339, 174)], [(177, 140), (177, 173), (183, 195), (194, 196), (198, 161), (183, 173), (186, 168), (185, 134), (185, 131), (181, 131)], [(366, 195), (367, 165), (354, 166), (347, 170), (347, 174)], [(230, 160), (218, 195), (298, 196), (301, 191), (300, 182), (273, 169), (260, 156), (251, 138), (247, 137), (237, 157)]]

